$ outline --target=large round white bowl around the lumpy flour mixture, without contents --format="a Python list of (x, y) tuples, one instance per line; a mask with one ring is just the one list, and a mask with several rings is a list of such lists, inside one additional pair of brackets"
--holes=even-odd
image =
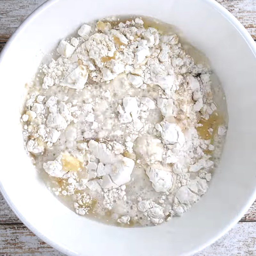
[[(229, 130), (205, 196), (182, 218), (149, 228), (118, 228), (76, 215), (41, 182), (23, 149), (24, 84), (44, 53), (84, 22), (109, 15), (155, 17), (177, 26), (210, 59), (224, 87)], [(4, 198), (37, 236), (68, 255), (190, 255), (224, 235), (255, 199), (256, 47), (244, 27), (212, 0), (50, 0), (13, 34), (0, 57)]]

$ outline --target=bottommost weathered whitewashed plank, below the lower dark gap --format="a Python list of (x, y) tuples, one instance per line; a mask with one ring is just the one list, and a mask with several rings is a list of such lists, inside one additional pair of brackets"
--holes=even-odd
[[(194, 256), (253, 256), (256, 222), (239, 222), (216, 243)], [(24, 225), (0, 225), (1, 256), (64, 256), (42, 242)], [(170, 254), (171, 255), (171, 254)]]

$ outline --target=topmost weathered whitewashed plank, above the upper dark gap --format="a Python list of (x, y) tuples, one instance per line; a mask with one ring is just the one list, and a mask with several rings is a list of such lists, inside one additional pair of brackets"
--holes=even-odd
[[(46, 0), (1, 0), (0, 42), (6, 42), (20, 23)], [(256, 40), (256, 0), (217, 0)]]

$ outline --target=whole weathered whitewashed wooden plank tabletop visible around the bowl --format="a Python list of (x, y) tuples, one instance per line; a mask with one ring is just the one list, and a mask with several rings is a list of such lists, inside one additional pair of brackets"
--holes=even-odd
[[(0, 0), (0, 52), (20, 23), (43, 2), (45, 0)], [(256, 40), (256, 0), (218, 2), (234, 14)], [(0, 256), (14, 255), (64, 256), (30, 232), (0, 194)], [(220, 255), (256, 255), (256, 202), (228, 234), (196, 254)]]

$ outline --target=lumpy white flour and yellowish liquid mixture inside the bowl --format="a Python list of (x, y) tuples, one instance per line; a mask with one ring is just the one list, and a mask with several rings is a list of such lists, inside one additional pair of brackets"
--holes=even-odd
[(141, 18), (84, 24), (56, 53), (20, 119), (52, 192), (77, 214), (124, 227), (188, 211), (227, 132), (211, 71)]

